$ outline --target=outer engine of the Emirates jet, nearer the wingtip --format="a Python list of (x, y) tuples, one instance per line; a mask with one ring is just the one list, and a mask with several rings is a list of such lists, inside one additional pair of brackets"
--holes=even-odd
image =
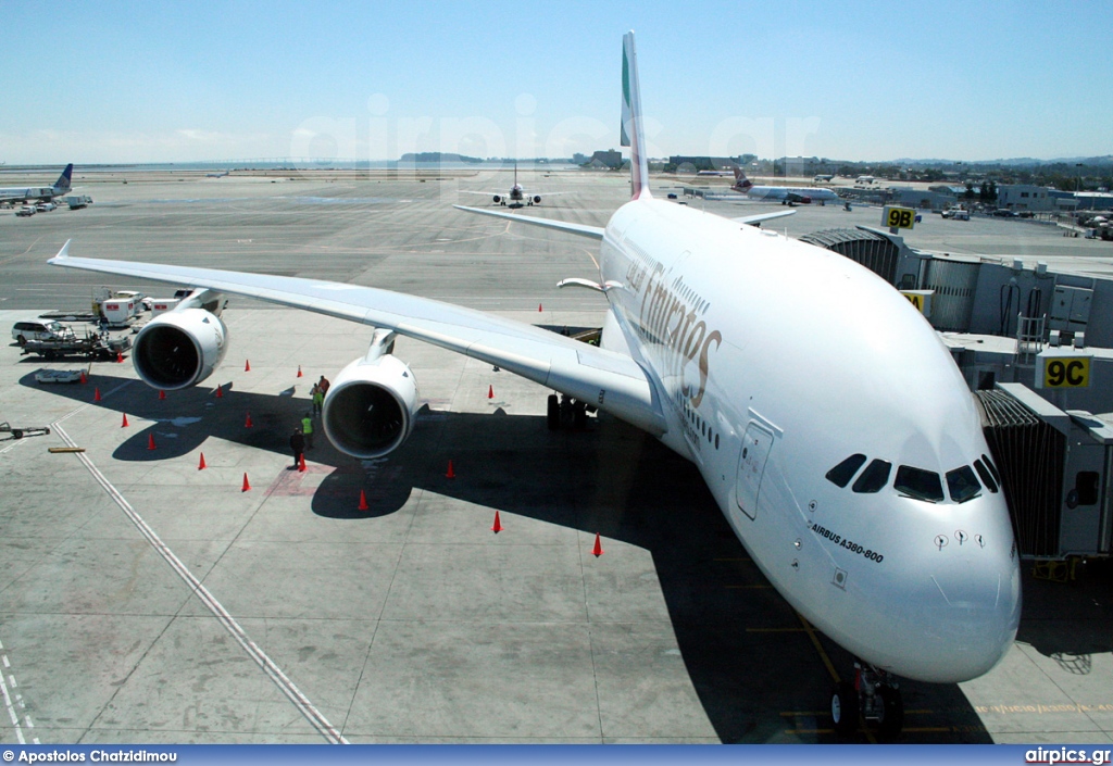
[(131, 360), (147, 385), (176, 391), (213, 374), (228, 350), (228, 328), (204, 308), (155, 317), (136, 335)]

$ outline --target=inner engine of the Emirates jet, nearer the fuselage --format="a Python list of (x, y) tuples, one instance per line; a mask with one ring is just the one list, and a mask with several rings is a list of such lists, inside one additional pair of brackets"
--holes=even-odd
[(397, 356), (358, 359), (328, 387), (322, 423), (337, 450), (381, 458), (401, 446), (414, 428), (417, 381)]

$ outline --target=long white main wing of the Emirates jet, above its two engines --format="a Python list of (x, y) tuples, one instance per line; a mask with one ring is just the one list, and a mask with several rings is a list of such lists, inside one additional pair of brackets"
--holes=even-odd
[(322, 279), (164, 264), (75, 258), (67, 242), (47, 263), (209, 289), (392, 330), (495, 364), (605, 410), (650, 433), (664, 432), (656, 391), (629, 356), (540, 327), (432, 298)]

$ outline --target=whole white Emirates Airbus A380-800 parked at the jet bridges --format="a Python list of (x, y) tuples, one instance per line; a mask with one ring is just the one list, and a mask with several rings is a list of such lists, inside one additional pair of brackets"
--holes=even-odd
[(860, 713), (896, 730), (896, 677), (981, 676), (1020, 621), (1016, 546), (971, 393), (930, 325), (868, 269), (652, 197), (632, 32), (622, 97), (632, 198), (605, 227), (474, 209), (600, 240), (600, 281), (571, 283), (605, 296), (601, 347), (356, 285), (76, 258), (69, 243), (50, 263), (195, 287), (135, 340), (136, 370), (159, 389), (219, 364), (221, 293), (373, 325), (324, 403), (328, 438), (357, 458), (391, 452), (413, 428), (417, 390), (395, 335), (648, 431), (696, 463), (781, 596), (857, 658), (855, 682), (830, 698), (836, 727), (856, 728)]

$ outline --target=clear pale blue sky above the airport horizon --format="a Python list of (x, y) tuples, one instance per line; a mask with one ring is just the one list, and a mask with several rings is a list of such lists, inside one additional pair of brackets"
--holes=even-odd
[(628, 29), (653, 156), (1113, 154), (1105, 0), (2, 0), (0, 161), (590, 154)]

